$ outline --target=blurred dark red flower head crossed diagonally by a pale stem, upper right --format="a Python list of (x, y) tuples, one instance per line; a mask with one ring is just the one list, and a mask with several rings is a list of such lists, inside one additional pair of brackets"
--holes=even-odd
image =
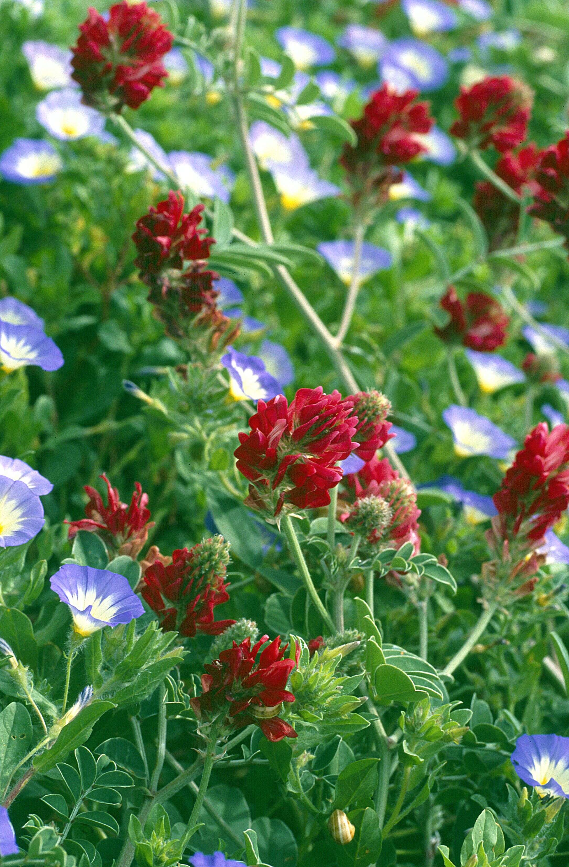
[[(540, 151), (532, 142), (518, 153), (504, 153), (495, 165), (495, 173), (519, 195), (525, 190), (535, 193), (539, 185), (534, 172), (539, 160)], [(488, 232), (491, 250), (498, 250), (516, 236), (520, 225), (520, 205), (508, 199), (497, 186), (488, 180), (479, 181), (475, 186), (473, 204)]]

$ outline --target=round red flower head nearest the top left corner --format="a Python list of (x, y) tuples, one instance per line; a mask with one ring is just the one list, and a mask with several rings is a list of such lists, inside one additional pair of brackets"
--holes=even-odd
[(93, 7), (72, 50), (71, 77), (83, 101), (101, 111), (139, 108), (168, 75), (162, 63), (173, 36), (146, 3), (115, 3), (107, 21)]

